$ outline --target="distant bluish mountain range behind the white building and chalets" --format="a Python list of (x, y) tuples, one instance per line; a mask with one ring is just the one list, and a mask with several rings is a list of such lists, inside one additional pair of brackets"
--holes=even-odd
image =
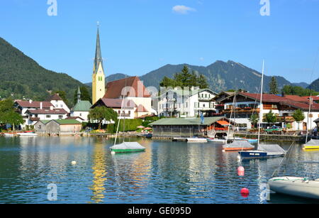
[[(182, 65), (165, 65), (157, 70), (147, 73), (140, 77), (144, 84), (148, 86), (159, 86), (159, 82), (164, 76), (172, 77), (176, 72), (187, 65), (189, 69), (196, 70), (206, 76), (208, 84), (215, 92), (225, 91), (229, 89), (245, 89), (249, 92), (258, 92), (262, 74), (256, 70), (246, 67), (238, 62), (228, 60), (223, 62), (218, 60), (207, 67), (194, 66), (188, 64)], [(275, 76), (278, 87), (281, 89), (284, 85), (291, 85), (291, 82), (284, 77)], [(269, 91), (269, 82), (272, 77), (264, 76), (264, 92)]]

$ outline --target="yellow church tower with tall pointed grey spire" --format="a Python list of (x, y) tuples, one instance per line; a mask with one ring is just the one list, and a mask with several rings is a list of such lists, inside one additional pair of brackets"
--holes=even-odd
[(96, 50), (92, 75), (92, 104), (95, 104), (105, 94), (105, 75), (100, 45), (99, 25), (96, 36)]

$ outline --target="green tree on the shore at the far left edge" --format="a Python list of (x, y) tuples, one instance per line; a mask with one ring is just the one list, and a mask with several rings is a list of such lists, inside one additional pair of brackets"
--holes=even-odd
[(2, 124), (11, 124), (13, 126), (13, 130), (15, 130), (15, 126), (24, 123), (21, 114), (16, 113), (13, 108), (12, 99), (5, 99), (0, 102), (0, 122)]

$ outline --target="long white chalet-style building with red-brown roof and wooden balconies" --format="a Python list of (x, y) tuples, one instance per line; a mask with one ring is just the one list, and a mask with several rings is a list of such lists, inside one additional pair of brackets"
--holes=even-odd
[[(222, 108), (218, 109), (218, 113), (224, 114), (226, 117), (235, 121), (242, 129), (252, 129), (250, 117), (252, 114), (258, 114), (261, 111), (262, 117), (272, 111), (276, 115), (276, 126), (286, 127), (291, 125), (291, 130), (313, 129), (315, 127), (315, 119), (319, 117), (319, 104), (311, 105), (309, 111), (309, 99), (306, 97), (301, 101), (300, 97), (281, 97), (275, 94), (263, 94), (262, 104), (260, 104), (260, 94), (252, 94), (246, 92), (238, 92), (234, 101), (235, 94), (231, 94), (224, 99), (218, 100), (218, 105)], [(298, 102), (297, 102), (298, 101)], [(308, 102), (308, 103), (307, 103)], [(297, 110), (301, 109), (305, 119), (297, 123), (292, 115)], [(235, 117), (234, 117), (235, 114)], [(266, 121), (262, 122), (263, 127), (269, 126)]]

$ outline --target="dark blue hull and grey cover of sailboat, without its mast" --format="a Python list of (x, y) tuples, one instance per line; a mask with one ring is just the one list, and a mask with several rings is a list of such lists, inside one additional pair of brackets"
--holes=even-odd
[(240, 158), (275, 158), (285, 156), (286, 151), (276, 144), (259, 144), (254, 151), (238, 151)]

